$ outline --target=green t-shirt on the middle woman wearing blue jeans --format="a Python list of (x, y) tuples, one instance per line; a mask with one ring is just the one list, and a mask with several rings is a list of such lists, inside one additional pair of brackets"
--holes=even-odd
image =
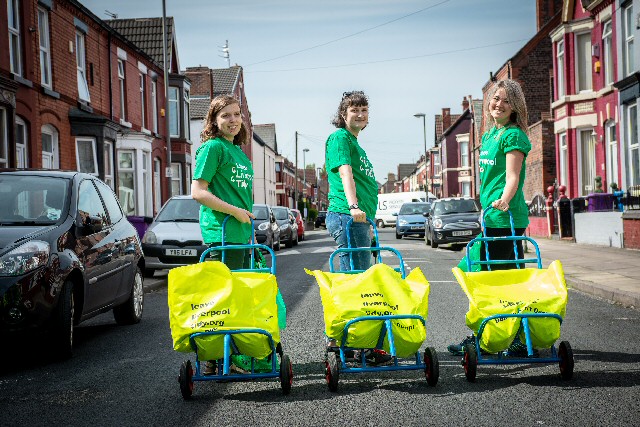
[(329, 135), (326, 143), (326, 168), (329, 176), (329, 211), (349, 214), (349, 202), (344, 194), (339, 168), (350, 165), (356, 184), (358, 206), (368, 218), (375, 218), (378, 207), (378, 183), (367, 153), (351, 132), (340, 128)]

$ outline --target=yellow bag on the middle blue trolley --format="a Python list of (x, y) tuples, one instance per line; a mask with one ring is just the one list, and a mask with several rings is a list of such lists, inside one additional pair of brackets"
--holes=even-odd
[[(388, 265), (376, 264), (359, 274), (326, 273), (305, 270), (316, 278), (324, 309), (325, 333), (338, 343), (349, 320), (361, 316), (418, 314), (427, 318), (429, 282), (419, 268), (405, 279)], [(420, 320), (392, 320), (393, 338), (398, 357), (415, 354), (426, 338)], [(375, 348), (383, 322), (356, 322), (349, 328), (345, 345), (355, 348)], [(387, 352), (385, 336), (382, 348)]]

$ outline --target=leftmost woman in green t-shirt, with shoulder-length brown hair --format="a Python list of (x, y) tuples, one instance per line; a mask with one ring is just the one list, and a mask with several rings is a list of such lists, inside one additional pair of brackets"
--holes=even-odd
[[(246, 244), (253, 232), (253, 168), (240, 148), (247, 141), (240, 103), (230, 95), (220, 95), (211, 101), (200, 134), (202, 145), (196, 152), (191, 196), (200, 207), (200, 228), (204, 243), (222, 243), (222, 222), (225, 244)], [(211, 252), (214, 260), (222, 259), (221, 251)], [(247, 250), (226, 251), (225, 264), (231, 270), (249, 268)]]

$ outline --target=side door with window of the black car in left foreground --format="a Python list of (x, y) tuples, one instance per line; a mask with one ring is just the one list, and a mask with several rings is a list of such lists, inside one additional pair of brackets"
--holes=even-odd
[(93, 180), (78, 186), (78, 257), (85, 269), (84, 312), (113, 301), (122, 280), (120, 245)]

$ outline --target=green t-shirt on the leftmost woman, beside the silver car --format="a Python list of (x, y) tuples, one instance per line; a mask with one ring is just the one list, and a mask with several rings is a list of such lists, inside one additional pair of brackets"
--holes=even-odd
[[(230, 205), (253, 210), (253, 168), (242, 149), (224, 138), (204, 142), (196, 152), (193, 179), (209, 183), (209, 191)], [(226, 213), (200, 206), (200, 229), (206, 244), (222, 241), (222, 221)], [(245, 244), (251, 237), (251, 224), (231, 217), (225, 225), (225, 243)]]

